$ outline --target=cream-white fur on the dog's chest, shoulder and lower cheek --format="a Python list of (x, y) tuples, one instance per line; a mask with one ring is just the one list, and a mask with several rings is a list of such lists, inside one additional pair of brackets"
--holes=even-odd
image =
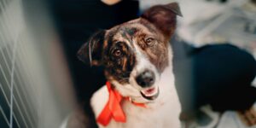
[[(122, 102), (121, 105), (126, 115), (126, 122), (119, 123), (115, 122), (112, 119), (110, 123), (106, 126), (107, 128), (181, 127), (178, 118), (179, 113), (181, 111), (181, 107), (174, 84), (174, 76), (172, 72), (172, 50), (170, 46), (168, 50), (169, 66), (166, 67), (163, 73), (161, 73), (161, 77), (157, 82), (160, 88), (160, 95), (157, 97), (157, 99), (155, 99), (154, 102), (146, 103), (147, 108), (137, 107), (129, 101)], [(147, 63), (144, 63), (142, 61), (142, 64), (148, 64), (148, 61)], [(135, 87), (134, 85), (119, 85), (117, 82), (113, 82), (113, 84), (117, 87), (117, 90), (122, 91), (121, 94), (131, 94), (131, 92), (133, 92), (133, 100), (145, 102), (145, 100), (142, 100), (143, 97), (139, 95), (139, 91), (136, 89), (137, 87)], [(98, 117), (98, 115), (102, 112), (102, 109), (104, 108), (107, 102), (108, 90), (106, 86), (103, 86), (100, 90), (97, 90), (90, 99), (91, 107), (93, 108), (96, 117)], [(104, 126), (99, 125), (99, 127), (103, 128)]]

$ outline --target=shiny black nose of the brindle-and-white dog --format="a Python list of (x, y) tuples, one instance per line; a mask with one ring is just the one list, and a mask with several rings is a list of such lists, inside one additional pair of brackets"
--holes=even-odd
[(146, 70), (137, 76), (136, 82), (142, 87), (150, 87), (152, 84), (154, 84), (154, 73)]

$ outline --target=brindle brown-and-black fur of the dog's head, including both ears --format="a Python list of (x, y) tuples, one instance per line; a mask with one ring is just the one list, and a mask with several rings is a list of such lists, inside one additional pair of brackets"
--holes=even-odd
[(88, 58), (87, 47), (90, 47), (91, 65), (103, 65), (108, 80), (127, 84), (137, 64), (137, 45), (158, 72), (162, 73), (168, 66), (167, 44), (176, 27), (176, 15), (181, 15), (178, 10), (177, 3), (154, 6), (137, 20), (98, 32), (90, 39), (89, 45), (84, 44), (79, 50), (79, 58), (83, 61)]

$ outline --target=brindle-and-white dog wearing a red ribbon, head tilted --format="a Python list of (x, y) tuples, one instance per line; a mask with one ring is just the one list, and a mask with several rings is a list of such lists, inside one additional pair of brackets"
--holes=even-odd
[(177, 15), (178, 3), (155, 5), (135, 20), (96, 32), (79, 49), (79, 60), (103, 66), (108, 79), (90, 99), (99, 127), (181, 127), (169, 43)]

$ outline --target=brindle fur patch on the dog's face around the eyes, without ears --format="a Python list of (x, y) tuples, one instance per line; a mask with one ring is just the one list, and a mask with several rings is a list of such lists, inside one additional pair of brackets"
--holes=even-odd
[[(148, 46), (147, 38), (153, 38), (154, 44)], [(119, 26), (114, 26), (106, 33), (104, 41), (103, 61), (107, 78), (129, 83), (130, 73), (136, 66), (134, 45), (142, 49), (143, 54), (161, 73), (168, 66), (168, 39), (162, 35), (152, 23), (144, 19), (131, 20)], [(113, 52), (121, 50), (122, 56), (115, 57)]]

